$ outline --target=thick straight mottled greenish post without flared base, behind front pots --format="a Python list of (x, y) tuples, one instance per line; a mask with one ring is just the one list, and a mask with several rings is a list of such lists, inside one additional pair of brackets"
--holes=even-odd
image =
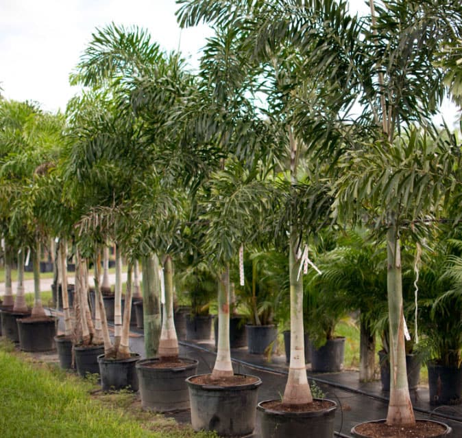
[(143, 318), (147, 358), (158, 354), (160, 337), (160, 281), (157, 255), (143, 257)]

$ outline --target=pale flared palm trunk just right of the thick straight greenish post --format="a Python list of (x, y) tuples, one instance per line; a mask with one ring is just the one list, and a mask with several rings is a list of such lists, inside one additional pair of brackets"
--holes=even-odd
[(170, 255), (165, 257), (165, 308), (159, 340), (160, 360), (178, 359), (178, 338), (173, 321), (173, 264)]

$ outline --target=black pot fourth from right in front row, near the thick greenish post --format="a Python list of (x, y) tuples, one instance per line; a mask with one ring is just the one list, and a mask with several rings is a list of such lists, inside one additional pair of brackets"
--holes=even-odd
[(141, 404), (156, 412), (182, 411), (189, 408), (189, 392), (186, 378), (197, 373), (197, 360), (179, 358), (184, 367), (153, 368), (150, 364), (160, 359), (151, 358), (136, 363)]

